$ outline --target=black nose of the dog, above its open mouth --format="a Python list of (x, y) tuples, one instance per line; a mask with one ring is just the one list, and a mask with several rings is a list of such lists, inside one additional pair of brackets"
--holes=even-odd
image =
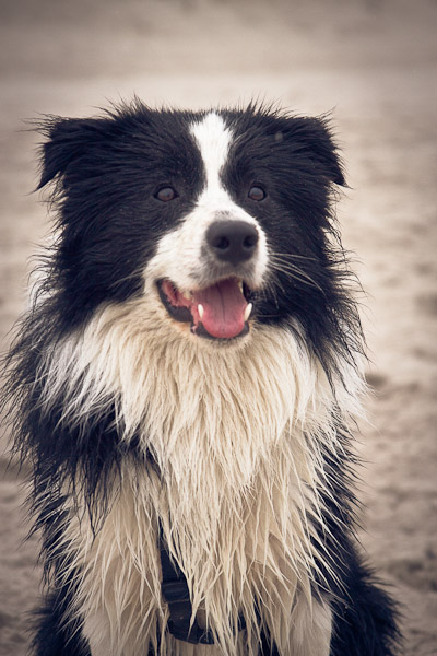
[(214, 256), (234, 266), (252, 257), (258, 239), (258, 230), (247, 221), (214, 221), (206, 231)]

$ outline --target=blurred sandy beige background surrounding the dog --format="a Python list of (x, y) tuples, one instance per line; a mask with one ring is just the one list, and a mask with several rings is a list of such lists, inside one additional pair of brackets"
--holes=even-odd
[[(367, 292), (374, 390), (358, 443), (359, 537), (404, 605), (405, 656), (437, 654), (436, 33), (435, 0), (0, 0), (2, 350), (49, 229), (32, 194), (38, 137), (25, 119), (88, 116), (134, 93), (152, 106), (256, 97), (332, 112), (350, 184), (339, 219)], [(37, 541), (22, 543), (26, 472), (5, 462), (0, 655), (22, 656)]]

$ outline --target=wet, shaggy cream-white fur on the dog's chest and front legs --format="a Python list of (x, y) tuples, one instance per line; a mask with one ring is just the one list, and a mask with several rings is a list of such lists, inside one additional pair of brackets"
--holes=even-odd
[[(146, 654), (158, 634), (162, 656), (256, 656), (255, 601), (282, 655), (327, 656), (330, 610), (310, 590), (321, 448), (338, 447), (324, 374), (288, 330), (199, 349), (165, 323), (147, 330), (156, 318), (139, 301), (107, 307), (47, 363), (47, 405), (68, 371), (71, 419), (115, 400), (122, 438), (139, 434), (161, 472), (127, 460), (97, 535), (71, 500), (66, 546), (93, 656)], [(158, 522), (216, 646), (164, 635)]]

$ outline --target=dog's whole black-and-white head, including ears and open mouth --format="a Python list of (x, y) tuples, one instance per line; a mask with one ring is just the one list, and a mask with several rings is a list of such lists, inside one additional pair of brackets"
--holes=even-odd
[(343, 184), (323, 121), (135, 104), (44, 131), (40, 186), (58, 176), (55, 286), (70, 325), (134, 296), (190, 339), (221, 343), (255, 320), (321, 315), (330, 188)]

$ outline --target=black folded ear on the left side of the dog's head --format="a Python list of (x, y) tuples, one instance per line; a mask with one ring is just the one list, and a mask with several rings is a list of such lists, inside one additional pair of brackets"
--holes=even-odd
[(47, 138), (40, 149), (42, 189), (57, 175), (63, 176), (70, 165), (78, 162), (101, 136), (103, 121), (86, 118), (49, 117), (37, 126)]

